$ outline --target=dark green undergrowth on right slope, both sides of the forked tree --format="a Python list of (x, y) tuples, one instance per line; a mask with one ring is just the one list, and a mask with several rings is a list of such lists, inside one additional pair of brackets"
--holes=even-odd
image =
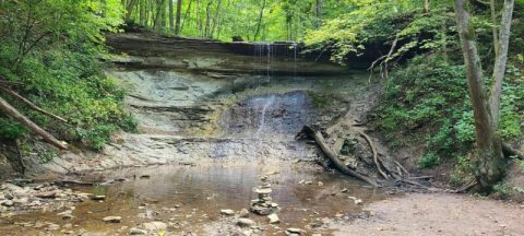
[[(499, 123), (504, 140), (520, 138), (524, 123), (524, 83), (515, 71), (509, 76)], [(475, 141), (464, 68), (438, 55), (416, 57), (393, 72), (374, 114), (373, 123), (392, 142), (424, 141), (427, 154), (420, 158), (420, 167), (450, 157), (464, 161), (461, 156)]]

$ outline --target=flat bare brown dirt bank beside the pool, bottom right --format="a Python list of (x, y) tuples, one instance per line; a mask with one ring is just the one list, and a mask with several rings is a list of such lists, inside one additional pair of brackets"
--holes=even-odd
[(523, 235), (524, 205), (457, 194), (408, 194), (371, 203), (370, 217), (335, 235)]

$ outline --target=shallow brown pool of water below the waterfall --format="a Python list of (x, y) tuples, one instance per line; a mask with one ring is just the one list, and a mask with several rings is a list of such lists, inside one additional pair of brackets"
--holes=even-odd
[[(188, 164), (188, 163), (186, 163)], [(81, 188), (82, 191), (105, 194), (104, 202), (86, 201), (73, 211), (73, 220), (64, 221), (58, 212), (20, 214), (0, 224), (2, 235), (37, 235), (41, 228), (34, 228), (38, 222), (61, 225), (64, 232), (102, 233), (103, 235), (126, 235), (141, 223), (162, 221), (170, 226), (168, 235), (191, 232), (209, 235), (206, 225), (218, 221), (219, 210), (239, 211), (249, 209), (255, 199), (252, 188), (260, 184), (259, 177), (267, 175), (273, 188), (273, 201), (278, 203), (277, 213), (282, 228), (308, 228), (309, 224), (322, 217), (348, 217), (361, 211), (348, 197), (362, 199), (365, 203), (384, 198), (381, 191), (365, 187), (361, 182), (334, 173), (326, 173), (310, 163), (290, 161), (253, 161), (191, 163), (117, 170), (109, 177), (128, 180), (109, 186)], [(299, 184), (301, 180), (311, 185)], [(347, 189), (347, 192), (341, 190)], [(109, 224), (102, 221), (109, 215), (122, 216), (122, 223)], [(266, 217), (251, 214), (251, 219), (265, 228), (265, 233), (277, 232), (267, 224)], [(27, 226), (11, 223), (29, 223)], [(71, 228), (67, 228), (71, 224)], [(46, 234), (58, 234), (47, 232)], [(322, 228), (309, 229), (324, 233)], [(24, 233), (22, 233), (24, 232)]]

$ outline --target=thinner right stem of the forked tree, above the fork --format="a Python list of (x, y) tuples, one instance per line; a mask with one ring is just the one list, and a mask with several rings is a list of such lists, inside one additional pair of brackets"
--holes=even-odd
[(508, 48), (510, 45), (511, 19), (513, 16), (513, 8), (515, 0), (505, 0), (500, 22), (500, 32), (498, 39), (493, 38), (496, 44), (496, 59), (493, 67), (493, 83), (491, 85), (491, 96), (489, 105), (491, 107), (491, 117), (493, 123), (499, 123), (500, 117), (500, 99), (502, 96), (502, 82), (505, 75), (505, 64), (508, 62)]

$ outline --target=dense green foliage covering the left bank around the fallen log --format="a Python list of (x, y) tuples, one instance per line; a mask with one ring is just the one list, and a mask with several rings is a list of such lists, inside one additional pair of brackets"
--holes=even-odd
[[(103, 73), (104, 33), (122, 22), (118, 0), (7, 1), (1, 4), (0, 74), (21, 82), (17, 92), (37, 106), (68, 119), (57, 123), (15, 105), (44, 129), (61, 139), (102, 149), (112, 131), (133, 131), (136, 121), (121, 109), (124, 91)], [(26, 31), (28, 28), (28, 31)], [(27, 134), (20, 125), (0, 128), (4, 139)]]

